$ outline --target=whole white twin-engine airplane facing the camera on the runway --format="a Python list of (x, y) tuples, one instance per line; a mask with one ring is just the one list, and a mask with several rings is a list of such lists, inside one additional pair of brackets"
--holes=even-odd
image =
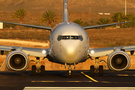
[[(68, 66), (67, 76), (73, 75), (72, 65), (74, 67), (78, 63), (85, 62), (87, 59), (95, 58), (98, 60), (101, 56), (108, 56), (107, 66), (113, 71), (123, 71), (130, 68), (131, 59), (126, 53), (129, 51), (131, 55), (134, 54), (135, 45), (133, 46), (121, 46), (121, 47), (109, 47), (109, 48), (89, 48), (89, 36), (86, 32), (88, 29), (118, 25), (127, 22), (111, 23), (103, 25), (85, 26), (69, 22), (68, 18), (68, 0), (63, 0), (63, 22), (53, 27), (36, 26), (12, 22), (3, 22), (8, 24), (27, 26), (38, 29), (46, 29), (51, 31), (50, 47), (44, 48), (27, 48), (27, 47), (14, 47), (14, 46), (0, 46), (1, 54), (4, 51), (10, 51), (6, 57), (6, 67), (13, 71), (25, 71), (29, 67), (29, 56), (35, 56), (40, 62), (40, 58), (47, 58), (50, 62), (59, 63)], [(36, 75), (40, 72), (41, 75), (45, 75), (45, 66), (39, 65), (32, 66), (32, 75)], [(99, 75), (103, 76), (103, 66), (90, 66), (90, 75), (94, 76), (95, 70), (98, 70)]]

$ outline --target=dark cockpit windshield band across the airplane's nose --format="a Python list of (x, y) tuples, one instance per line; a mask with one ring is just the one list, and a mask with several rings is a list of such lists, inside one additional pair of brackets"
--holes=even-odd
[(79, 36), (62, 36), (62, 35), (59, 35), (57, 40), (58, 41), (61, 41), (61, 40), (80, 40), (80, 41), (83, 41), (83, 37), (82, 35), (79, 35)]

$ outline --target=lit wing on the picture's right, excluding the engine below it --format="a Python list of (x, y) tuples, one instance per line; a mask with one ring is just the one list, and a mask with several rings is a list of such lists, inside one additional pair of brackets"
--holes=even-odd
[(109, 48), (93, 48), (89, 49), (89, 55), (91, 57), (101, 57), (108, 56), (114, 51), (125, 51), (133, 52), (135, 50), (135, 45), (132, 46), (121, 46), (121, 47), (109, 47)]

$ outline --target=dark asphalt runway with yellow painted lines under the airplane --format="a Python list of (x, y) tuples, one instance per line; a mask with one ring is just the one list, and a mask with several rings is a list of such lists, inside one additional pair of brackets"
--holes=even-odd
[(0, 90), (23, 90), (25, 87), (135, 87), (135, 70), (113, 72), (104, 70), (103, 76), (90, 77), (89, 70), (74, 71), (67, 78), (67, 71), (46, 71), (45, 76), (31, 76), (31, 71), (0, 72)]

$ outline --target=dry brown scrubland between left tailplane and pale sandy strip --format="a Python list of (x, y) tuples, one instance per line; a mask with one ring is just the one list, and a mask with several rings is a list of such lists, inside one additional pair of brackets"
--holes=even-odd
[(0, 39), (15, 39), (24, 41), (48, 42), (50, 31), (41, 29), (3, 29)]

